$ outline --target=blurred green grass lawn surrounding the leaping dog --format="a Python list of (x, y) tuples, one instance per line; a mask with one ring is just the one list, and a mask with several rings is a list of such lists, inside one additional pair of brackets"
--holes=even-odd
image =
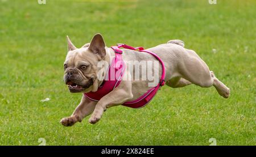
[[(0, 145), (256, 145), (256, 2), (0, 0)], [(142, 109), (108, 109), (65, 128), (81, 94), (63, 82), (65, 36), (108, 46), (180, 39), (231, 89), (163, 87)], [(215, 50), (214, 50), (215, 49)], [(40, 102), (49, 97), (51, 100)]]

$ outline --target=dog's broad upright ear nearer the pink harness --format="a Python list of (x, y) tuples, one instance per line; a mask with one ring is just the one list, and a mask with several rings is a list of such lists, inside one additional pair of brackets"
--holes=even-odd
[(106, 55), (105, 42), (100, 33), (94, 35), (92, 41), (90, 41), (90, 45), (88, 49), (93, 53), (100, 55), (101, 58), (105, 57)]

